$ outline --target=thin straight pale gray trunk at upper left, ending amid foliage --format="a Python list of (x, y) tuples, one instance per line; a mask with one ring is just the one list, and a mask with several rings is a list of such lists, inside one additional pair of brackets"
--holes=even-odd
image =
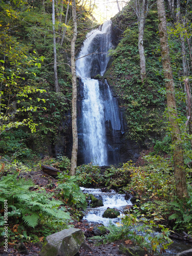
[(54, 55), (54, 78), (55, 78), (55, 92), (59, 92), (59, 83), (57, 77), (57, 52), (55, 39), (55, 1), (52, 0), (52, 20), (53, 20), (53, 55)]

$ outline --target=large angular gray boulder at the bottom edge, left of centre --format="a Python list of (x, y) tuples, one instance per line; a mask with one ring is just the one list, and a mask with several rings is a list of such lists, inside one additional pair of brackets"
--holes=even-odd
[(46, 238), (39, 256), (74, 256), (84, 242), (81, 229), (63, 229)]

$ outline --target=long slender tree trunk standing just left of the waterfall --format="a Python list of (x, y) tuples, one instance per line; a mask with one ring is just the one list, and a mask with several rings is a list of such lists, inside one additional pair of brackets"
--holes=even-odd
[(73, 148), (71, 156), (71, 170), (70, 175), (76, 174), (77, 167), (77, 78), (75, 69), (75, 41), (77, 38), (77, 17), (75, 0), (72, 0), (72, 16), (73, 16), (73, 38), (71, 41), (71, 73), (72, 73), (72, 134), (73, 134)]

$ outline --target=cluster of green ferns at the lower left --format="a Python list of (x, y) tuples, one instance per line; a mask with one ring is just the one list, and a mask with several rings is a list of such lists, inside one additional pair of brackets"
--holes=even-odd
[[(52, 198), (44, 188), (30, 191), (34, 186), (31, 180), (17, 178), (17, 174), (8, 174), (0, 180), (0, 205), (4, 209), (4, 201), (8, 202), (8, 220), (17, 224), (20, 220), (28, 227), (34, 228), (41, 221), (53, 221), (65, 225), (69, 222), (70, 215), (65, 212), (65, 207), (58, 208), (61, 201)], [(2, 211), (1, 211), (2, 212)], [(4, 216), (0, 217), (0, 225), (4, 224)]]

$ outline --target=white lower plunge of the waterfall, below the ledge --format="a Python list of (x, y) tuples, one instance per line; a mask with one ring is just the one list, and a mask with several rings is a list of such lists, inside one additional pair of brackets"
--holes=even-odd
[(104, 130), (103, 104), (100, 99), (99, 83), (91, 78), (82, 78), (84, 83), (83, 140), (85, 151), (95, 165), (105, 165), (107, 159)]

